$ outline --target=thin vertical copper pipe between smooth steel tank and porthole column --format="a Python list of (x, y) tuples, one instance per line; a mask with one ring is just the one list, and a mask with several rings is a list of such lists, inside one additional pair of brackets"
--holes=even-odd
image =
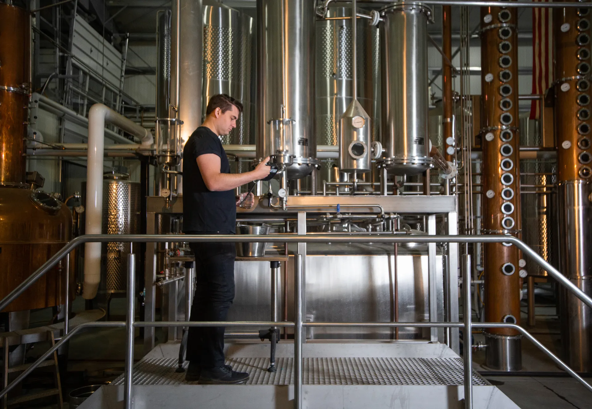
[[(442, 7), (442, 51), (449, 61), (452, 61), (452, 21), (451, 21), (451, 7)], [(443, 139), (446, 149), (444, 149), (444, 157), (447, 161), (452, 162), (453, 156), (447, 151), (449, 146), (448, 138), (453, 137), (452, 132), (452, 67), (442, 57), (442, 128)]]

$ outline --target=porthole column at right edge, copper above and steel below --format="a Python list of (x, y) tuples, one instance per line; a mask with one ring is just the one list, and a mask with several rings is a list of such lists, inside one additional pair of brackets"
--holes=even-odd
[[(591, 12), (564, 8), (553, 15), (559, 270), (592, 294)], [(572, 294), (560, 294), (565, 359), (574, 371), (590, 372), (592, 311)]]

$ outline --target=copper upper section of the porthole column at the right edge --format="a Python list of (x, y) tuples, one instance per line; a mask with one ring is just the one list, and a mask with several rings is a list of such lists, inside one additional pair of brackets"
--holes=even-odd
[[(578, 46), (578, 36), (587, 35), (590, 38), (590, 29), (578, 30), (578, 9), (565, 8), (560, 12), (554, 12), (554, 31), (555, 31), (555, 129), (557, 144), (557, 178), (559, 182), (575, 181), (584, 179), (580, 175), (580, 170), (584, 166), (590, 168), (590, 164), (583, 165), (578, 160), (581, 153), (592, 154), (590, 140), (590, 120), (584, 121), (578, 118), (578, 112), (582, 109), (590, 110), (590, 101), (585, 105), (578, 105), (578, 97), (590, 95), (590, 89), (578, 91), (578, 82), (582, 73), (578, 72), (578, 65), (587, 64), (590, 67), (590, 56), (585, 59), (578, 59), (578, 51), (581, 49), (590, 49), (590, 46)], [(586, 17), (588, 18), (588, 17)], [(563, 31), (567, 27), (567, 31)], [(589, 41), (589, 40), (588, 40)], [(589, 51), (588, 51), (589, 53)], [(588, 69), (590, 70), (590, 69)], [(588, 73), (589, 75), (589, 73)], [(567, 78), (567, 80), (559, 80)], [(591, 81), (588, 79), (588, 87)], [(588, 97), (590, 98), (590, 97)], [(590, 112), (590, 111), (588, 111)], [(588, 127), (588, 134), (578, 133), (578, 127)], [(581, 128), (580, 128), (581, 129)], [(583, 146), (578, 141), (585, 138), (588, 140), (588, 147)]]

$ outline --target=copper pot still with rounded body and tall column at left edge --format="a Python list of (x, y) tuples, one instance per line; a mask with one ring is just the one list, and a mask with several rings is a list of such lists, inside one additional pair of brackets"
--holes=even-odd
[[(66, 205), (49, 194), (31, 191), (24, 183), (29, 19), (26, 10), (0, 4), (0, 298), (62, 248), (72, 230), (72, 215)], [(4, 311), (63, 304), (62, 271), (59, 266), (50, 270)]]

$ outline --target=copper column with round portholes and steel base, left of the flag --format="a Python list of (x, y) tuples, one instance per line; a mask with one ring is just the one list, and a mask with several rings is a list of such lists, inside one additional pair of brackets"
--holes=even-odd
[[(516, 9), (481, 8), (481, 136), (485, 234), (520, 233), (518, 59)], [(520, 324), (519, 251), (484, 246), (485, 321)], [(496, 371), (522, 368), (519, 334), (490, 329), (486, 365)], [(471, 342), (471, 340), (465, 340)]]

